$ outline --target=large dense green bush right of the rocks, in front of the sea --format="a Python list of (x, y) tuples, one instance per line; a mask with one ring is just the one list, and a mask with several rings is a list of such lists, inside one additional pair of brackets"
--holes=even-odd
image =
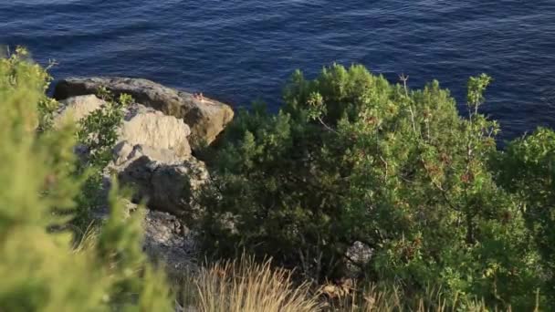
[[(508, 160), (496, 149), (497, 123), (479, 113), (490, 80), (470, 78), (462, 118), (437, 81), (411, 90), (361, 66), (335, 65), (314, 80), (295, 73), (278, 114), (257, 104), (225, 131), (200, 196), (206, 209), (191, 223), (205, 251), (272, 255), (321, 281), (345, 275), (346, 251), (360, 241), (373, 249), (368, 280), (534, 307), (550, 276), (539, 264), (552, 261), (540, 261), (537, 243), (553, 242), (552, 232), (522, 209), (534, 195), (496, 181), (508, 178), (492, 164)], [(509, 148), (507, 158), (520, 153)], [(534, 173), (522, 170), (526, 184)], [(538, 179), (529, 187), (543, 194), (550, 184)], [(536, 211), (552, 212), (534, 198), (544, 207)]]

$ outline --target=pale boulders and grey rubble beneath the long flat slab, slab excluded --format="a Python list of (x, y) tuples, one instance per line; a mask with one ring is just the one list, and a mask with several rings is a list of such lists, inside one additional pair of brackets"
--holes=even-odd
[[(82, 120), (107, 105), (94, 95), (68, 98), (61, 104), (54, 117), (55, 125), (66, 119)], [(185, 210), (197, 209), (193, 194), (208, 179), (204, 163), (191, 155), (187, 140), (190, 135), (191, 130), (182, 119), (133, 103), (125, 108), (113, 160), (104, 169), (102, 197), (108, 197), (110, 175), (115, 172), (123, 185), (135, 191), (132, 201), (125, 201), (126, 211), (131, 213), (137, 203), (146, 200), (144, 252), (164, 265), (175, 282), (196, 269), (192, 261), (194, 235), (179, 216)], [(89, 151), (80, 153), (86, 159)], [(108, 212), (106, 201), (93, 215), (104, 219)]]

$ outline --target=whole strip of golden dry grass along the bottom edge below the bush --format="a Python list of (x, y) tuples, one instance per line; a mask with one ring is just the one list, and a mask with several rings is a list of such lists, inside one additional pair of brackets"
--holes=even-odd
[[(432, 287), (419, 297), (407, 297), (395, 286), (361, 290), (356, 285), (329, 284), (314, 290), (308, 283), (294, 284), (288, 270), (273, 268), (270, 261), (258, 264), (246, 256), (201, 268), (184, 289), (184, 310), (195, 312), (490, 311), (483, 300), (446, 300), (441, 289)], [(534, 311), (539, 311), (539, 304)]]

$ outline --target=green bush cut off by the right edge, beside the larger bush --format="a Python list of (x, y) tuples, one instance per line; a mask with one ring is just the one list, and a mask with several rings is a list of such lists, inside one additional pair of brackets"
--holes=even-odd
[(495, 161), (497, 181), (514, 193), (550, 279), (544, 292), (555, 299), (555, 132), (540, 128), (514, 140)]

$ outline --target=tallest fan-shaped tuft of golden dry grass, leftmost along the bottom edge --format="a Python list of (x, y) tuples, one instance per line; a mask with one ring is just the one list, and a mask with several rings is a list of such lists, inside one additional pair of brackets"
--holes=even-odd
[(199, 312), (321, 310), (318, 297), (310, 294), (309, 284), (295, 286), (290, 272), (273, 269), (270, 261), (257, 264), (243, 256), (238, 261), (216, 263), (202, 268), (193, 281), (196, 289), (189, 289), (186, 297), (189, 307)]

